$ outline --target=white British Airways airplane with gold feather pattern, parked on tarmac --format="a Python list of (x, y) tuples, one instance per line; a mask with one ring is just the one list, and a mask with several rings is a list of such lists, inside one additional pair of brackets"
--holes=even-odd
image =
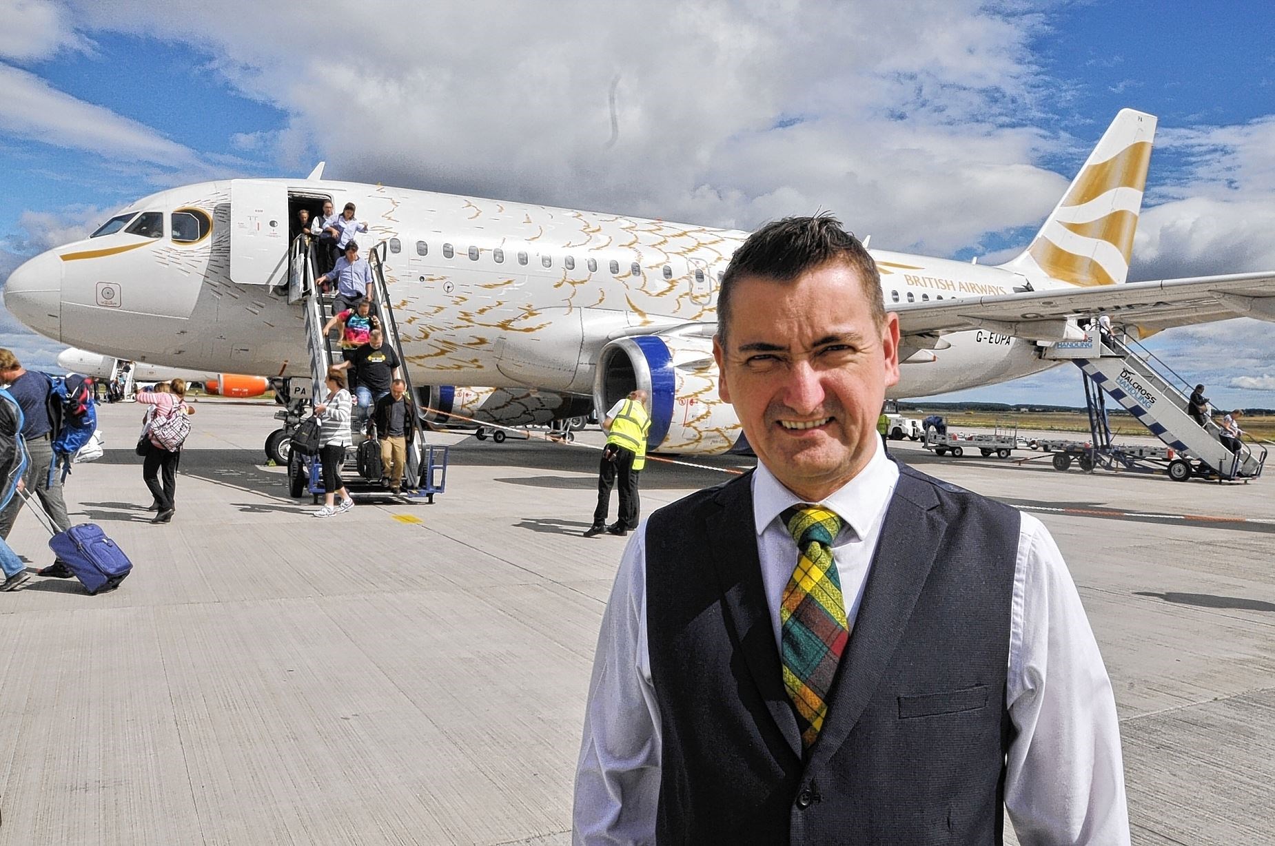
[[(1000, 266), (882, 250), (898, 312), (892, 398), (991, 385), (1058, 364), (1100, 312), (1144, 336), (1169, 326), (1275, 320), (1275, 274), (1125, 283), (1156, 120), (1123, 110), (1028, 248)], [(204, 182), (129, 205), (88, 240), (18, 268), (19, 320), (62, 343), (208, 372), (309, 375), (288, 223), (357, 205), (385, 245), (385, 279), (416, 385), (484, 385), (538, 408), (606, 409), (650, 391), (650, 443), (714, 454), (740, 436), (717, 396), (717, 285), (746, 232), (321, 180)], [(444, 399), (435, 389), (431, 404)], [(440, 409), (450, 410), (450, 409)]]

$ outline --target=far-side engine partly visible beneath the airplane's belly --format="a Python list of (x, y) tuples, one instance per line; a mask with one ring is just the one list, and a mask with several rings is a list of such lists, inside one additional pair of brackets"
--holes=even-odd
[(431, 385), (419, 390), (425, 419), (435, 426), (464, 426), (469, 420), (501, 426), (548, 426), (553, 420), (589, 414), (588, 396), (528, 387), (456, 387)]

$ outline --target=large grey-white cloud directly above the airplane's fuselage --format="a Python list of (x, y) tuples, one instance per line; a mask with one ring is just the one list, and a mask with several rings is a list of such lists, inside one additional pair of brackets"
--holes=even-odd
[(1065, 187), (1021, 127), (1043, 19), (975, 0), (412, 4), (339, 33), (249, 0), (73, 5), (88, 31), (210, 52), (288, 115), (233, 143), (334, 178), (740, 227), (824, 208), (940, 254)]

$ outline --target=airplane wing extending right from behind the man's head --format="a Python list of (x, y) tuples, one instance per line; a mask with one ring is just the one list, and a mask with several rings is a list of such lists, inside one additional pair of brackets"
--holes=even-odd
[[(1139, 326), (1145, 338), (1170, 326), (1232, 317), (1275, 321), (1275, 273), (1244, 273), (1131, 282), (1119, 285), (1033, 290), (937, 302), (899, 303), (899, 327), (913, 341), (969, 329), (1061, 340), (1068, 320), (1107, 313), (1112, 322)], [(914, 345), (926, 347), (921, 343)]]

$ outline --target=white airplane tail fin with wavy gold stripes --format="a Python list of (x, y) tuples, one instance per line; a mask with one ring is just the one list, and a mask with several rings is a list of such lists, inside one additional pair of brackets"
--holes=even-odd
[(1001, 266), (1074, 285), (1125, 282), (1155, 122), (1154, 115), (1122, 108), (1031, 245)]

